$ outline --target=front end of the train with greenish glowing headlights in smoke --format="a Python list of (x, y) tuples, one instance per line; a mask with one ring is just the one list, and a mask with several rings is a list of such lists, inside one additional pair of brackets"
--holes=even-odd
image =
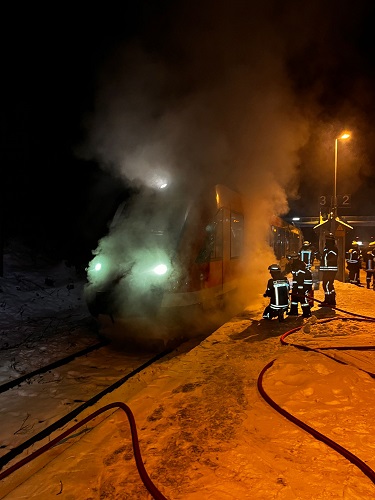
[(181, 274), (176, 250), (188, 204), (167, 189), (144, 188), (119, 207), (87, 268), (85, 300), (104, 336), (166, 335), (161, 304)]

